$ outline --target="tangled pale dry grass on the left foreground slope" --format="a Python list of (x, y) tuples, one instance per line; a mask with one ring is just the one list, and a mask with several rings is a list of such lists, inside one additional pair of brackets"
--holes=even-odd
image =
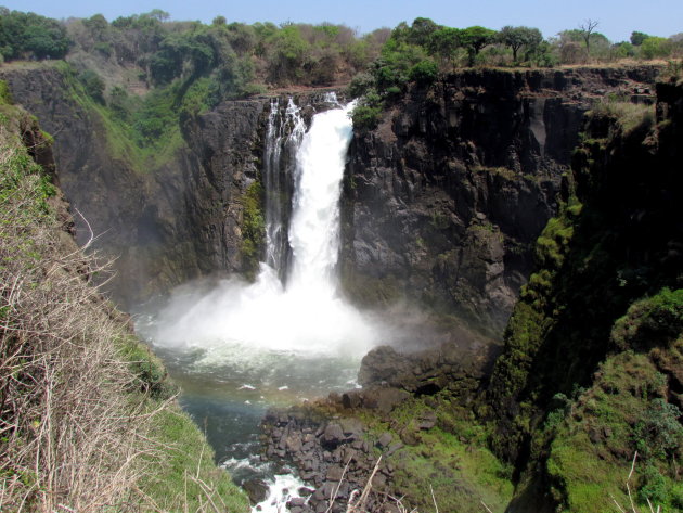
[(22, 150), (0, 128), (0, 510), (125, 510), (151, 413), (88, 284), (101, 269), (65, 252)]

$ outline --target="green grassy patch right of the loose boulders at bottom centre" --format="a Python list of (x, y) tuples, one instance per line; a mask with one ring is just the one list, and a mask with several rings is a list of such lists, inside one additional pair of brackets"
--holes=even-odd
[[(437, 425), (421, 431), (418, 419), (437, 413)], [(487, 433), (472, 415), (454, 405), (450, 393), (413, 397), (391, 412), (390, 422), (362, 415), (371, 438), (389, 432), (405, 446), (385, 457), (396, 471), (394, 488), (408, 509), (430, 511), (430, 489), (441, 511), (480, 512), (484, 501), (504, 511), (513, 497), (512, 470), (486, 447)]]

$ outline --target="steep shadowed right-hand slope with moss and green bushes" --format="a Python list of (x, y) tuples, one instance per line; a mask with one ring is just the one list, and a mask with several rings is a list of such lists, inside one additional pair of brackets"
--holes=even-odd
[[(606, 101), (585, 126), (479, 414), (494, 452), (518, 465), (521, 509), (540, 489), (563, 512), (607, 511), (610, 495), (627, 505), (637, 451), (636, 502), (675, 511), (683, 290), (680, 267), (666, 264), (672, 205), (650, 198), (673, 187), (676, 125), (656, 125), (652, 107)], [(656, 220), (634, 221), (645, 208)]]

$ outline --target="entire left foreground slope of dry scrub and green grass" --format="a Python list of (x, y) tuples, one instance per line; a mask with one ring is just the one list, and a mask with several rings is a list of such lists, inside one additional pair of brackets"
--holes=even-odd
[(89, 284), (103, 269), (36, 164), (50, 139), (0, 92), (0, 510), (246, 511), (164, 369)]

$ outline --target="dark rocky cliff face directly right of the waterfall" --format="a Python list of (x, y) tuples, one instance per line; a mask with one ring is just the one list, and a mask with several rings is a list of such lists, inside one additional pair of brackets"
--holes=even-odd
[(531, 245), (556, 211), (583, 113), (655, 76), (469, 70), (412, 88), (351, 143), (349, 293), (369, 303), (408, 297), (500, 333), (531, 270)]

